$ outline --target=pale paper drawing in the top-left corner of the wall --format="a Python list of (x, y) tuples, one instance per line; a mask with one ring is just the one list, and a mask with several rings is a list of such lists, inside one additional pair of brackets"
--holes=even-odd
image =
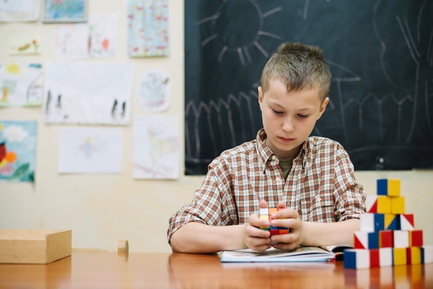
[(0, 0), (0, 22), (37, 21), (41, 0)]

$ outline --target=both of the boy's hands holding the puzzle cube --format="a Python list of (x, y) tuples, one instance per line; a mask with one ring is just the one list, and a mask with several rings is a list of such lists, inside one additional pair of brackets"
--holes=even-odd
[[(260, 201), (260, 208), (268, 207), (268, 203), (264, 200)], [(286, 208), (284, 203), (278, 203), (277, 208), (280, 210), (272, 214), (272, 223), (266, 220), (261, 220), (259, 214), (251, 214), (248, 218), (248, 223), (245, 227), (244, 243), (247, 247), (262, 251), (273, 246), (277, 249), (291, 250), (302, 243), (302, 221), (293, 209)], [(286, 208), (286, 209), (282, 209)], [(261, 230), (260, 227), (287, 227), (288, 234), (270, 236), (267, 230)]]

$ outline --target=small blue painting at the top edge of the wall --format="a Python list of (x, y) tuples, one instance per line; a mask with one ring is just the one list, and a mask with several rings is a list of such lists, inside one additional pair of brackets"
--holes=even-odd
[(45, 0), (45, 22), (86, 21), (86, 0)]

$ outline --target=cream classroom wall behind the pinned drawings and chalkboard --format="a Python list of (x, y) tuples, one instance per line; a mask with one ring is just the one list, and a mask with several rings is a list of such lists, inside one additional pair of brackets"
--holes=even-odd
[[(118, 15), (117, 56), (89, 62), (131, 62), (136, 77), (152, 68), (167, 71), (172, 77), (172, 105), (163, 114), (177, 115), (183, 136), (184, 0), (169, 1), (169, 57), (141, 59), (127, 56), (126, 3), (126, 0), (89, 1), (90, 15)], [(8, 35), (16, 30), (39, 33), (42, 53), (10, 56), (6, 43)], [(0, 39), (0, 62), (44, 64), (54, 60), (53, 24), (0, 24)], [(147, 114), (138, 105), (133, 106), (133, 117)], [(168, 218), (192, 199), (203, 176), (181, 174), (178, 180), (133, 180), (133, 122), (122, 127), (122, 174), (58, 174), (57, 143), (62, 125), (44, 124), (41, 107), (0, 109), (0, 120), (37, 120), (38, 123), (35, 183), (0, 183), (0, 229), (70, 229), (73, 246), (117, 250), (118, 240), (127, 239), (131, 252), (170, 252), (166, 239)], [(183, 142), (180, 151), (184, 151)], [(181, 172), (183, 162), (181, 153)], [(400, 178), (406, 212), (415, 214), (416, 227), (424, 230), (424, 242), (433, 244), (432, 172), (356, 171), (356, 178), (365, 185), (369, 194), (376, 194), (376, 179)]]

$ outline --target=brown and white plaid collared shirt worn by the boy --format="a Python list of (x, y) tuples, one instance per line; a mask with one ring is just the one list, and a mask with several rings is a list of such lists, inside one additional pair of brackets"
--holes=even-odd
[(365, 212), (365, 191), (353, 175), (353, 164), (342, 145), (311, 136), (293, 160), (284, 181), (279, 160), (265, 145), (261, 129), (256, 140), (223, 151), (208, 167), (190, 205), (169, 219), (167, 239), (189, 222), (208, 225), (246, 223), (264, 199), (269, 207), (282, 201), (302, 221), (337, 222)]

